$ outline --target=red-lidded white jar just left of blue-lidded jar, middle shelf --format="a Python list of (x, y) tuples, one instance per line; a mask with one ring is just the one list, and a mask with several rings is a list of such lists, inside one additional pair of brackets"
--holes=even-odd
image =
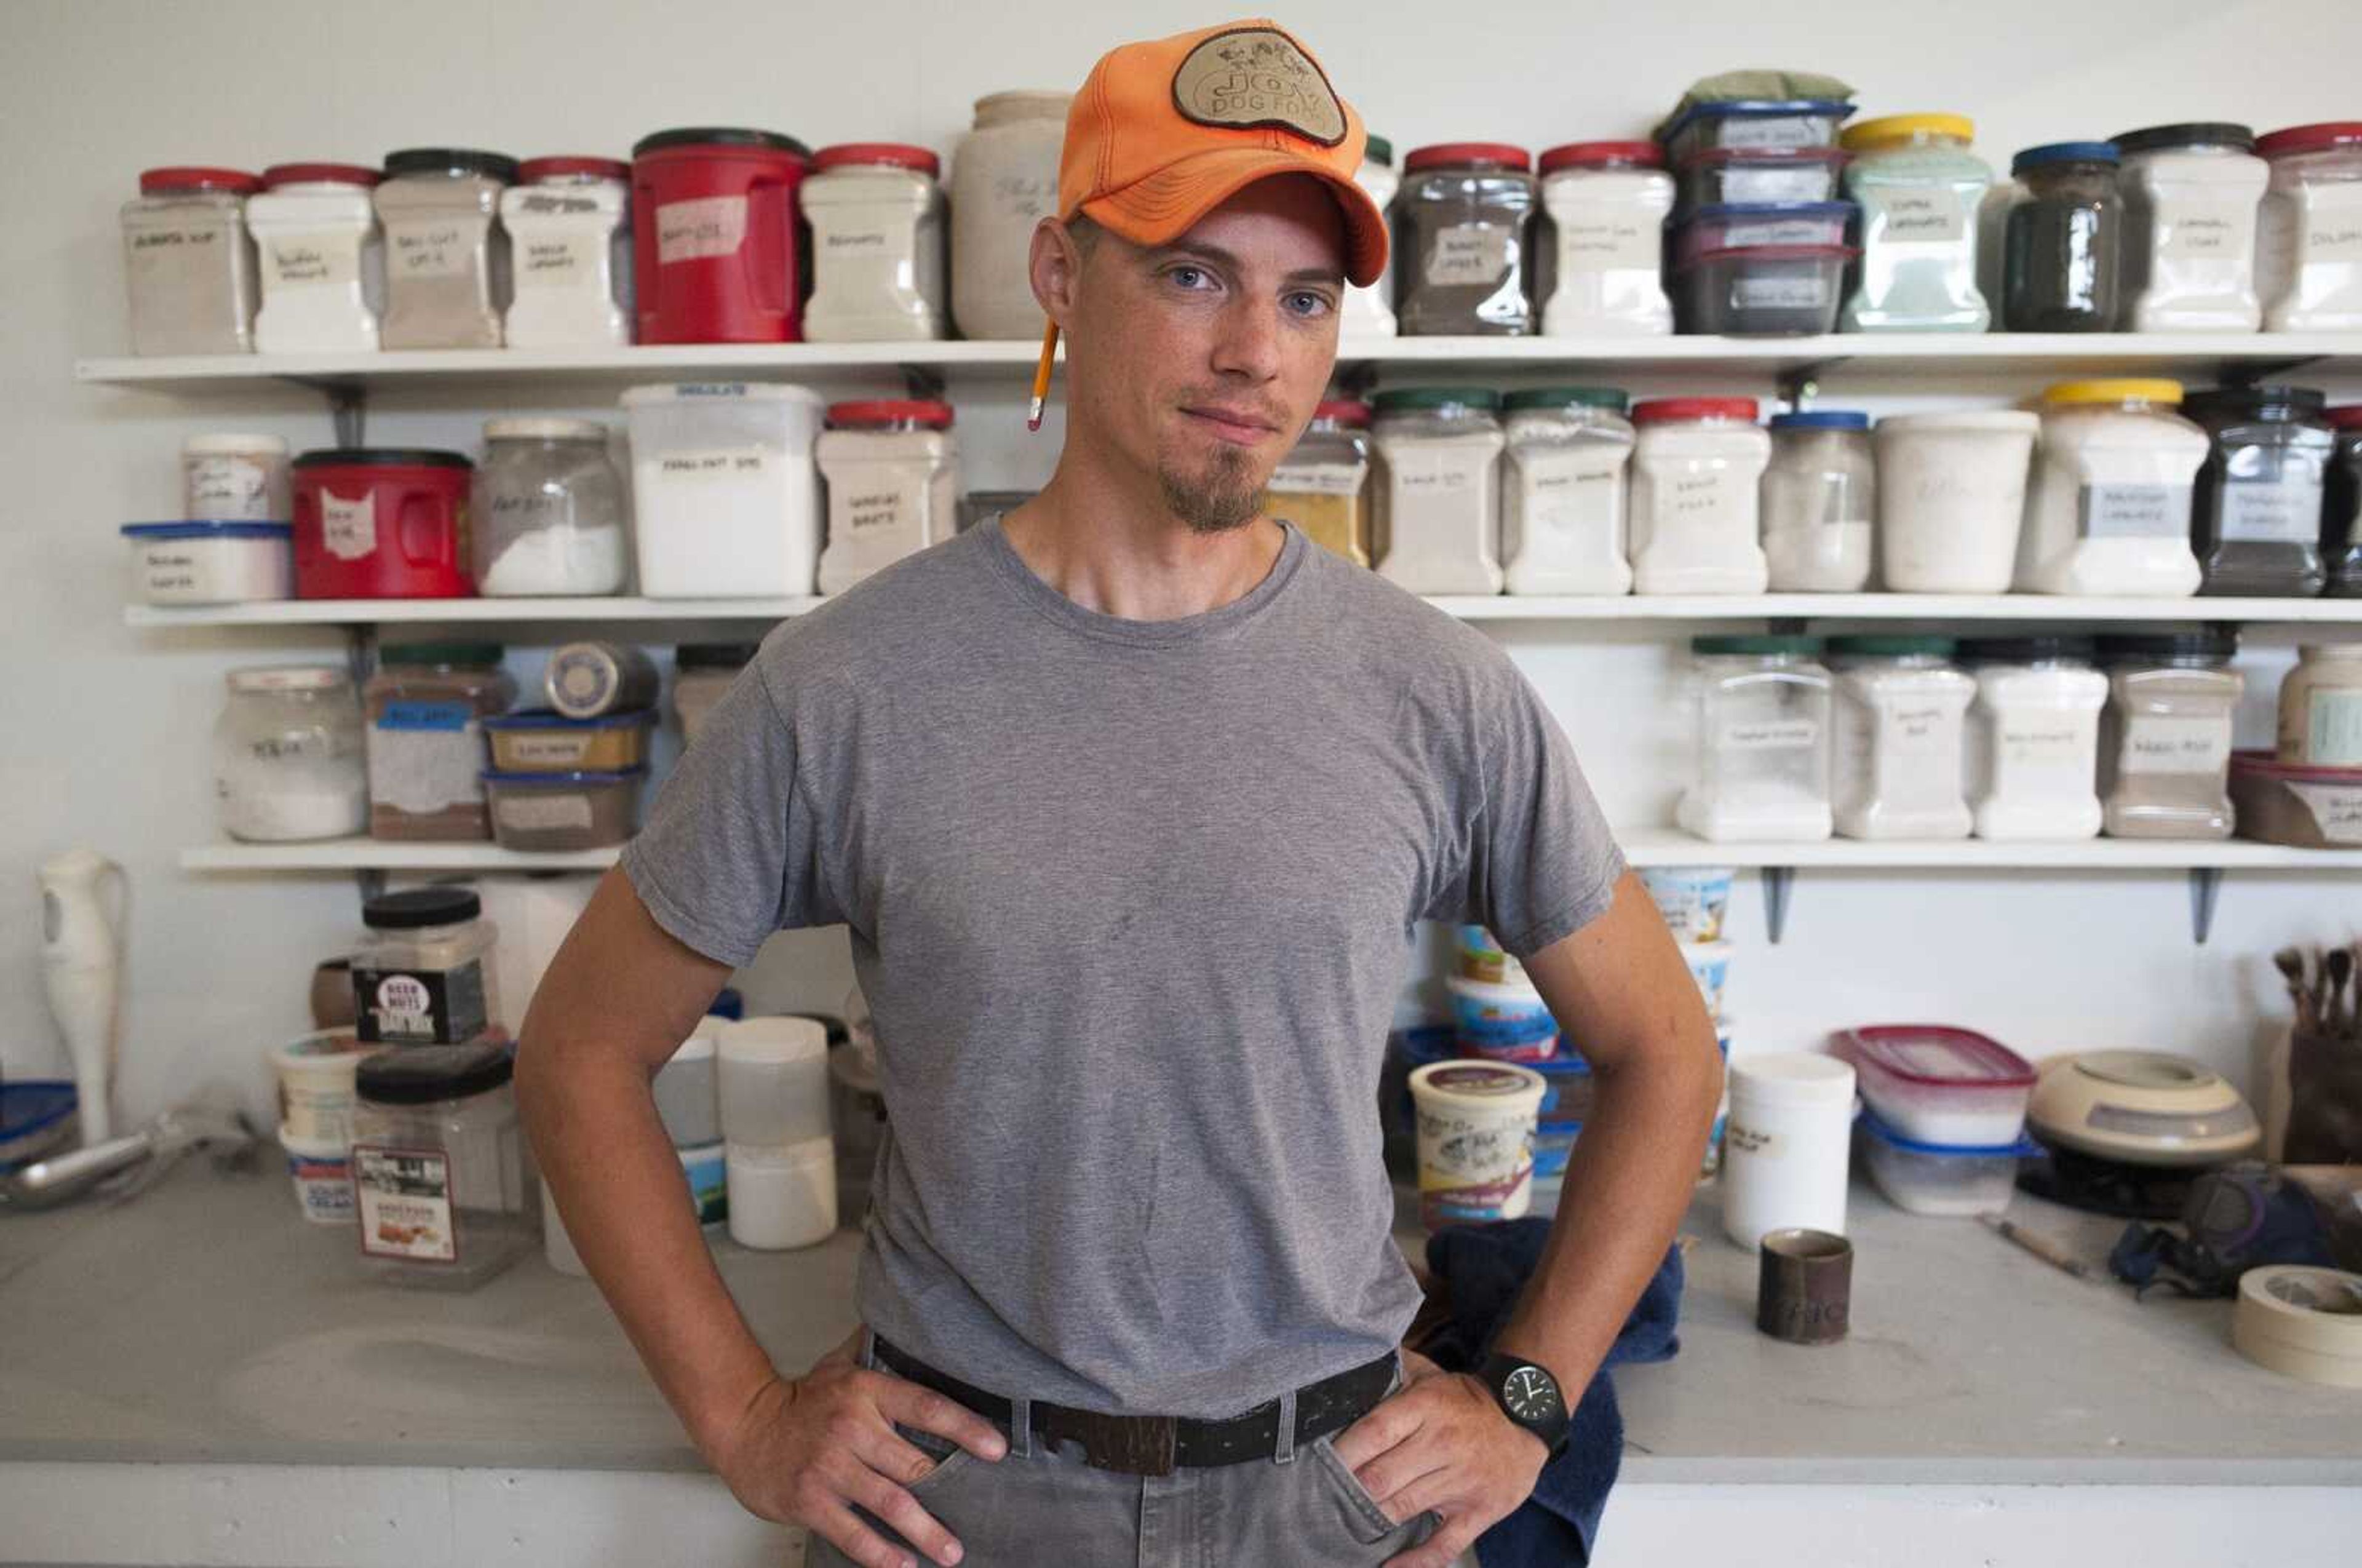
[(1656, 397), (1632, 404), (1635, 593), (1762, 593), (1757, 538), (1772, 437), (1753, 397)]

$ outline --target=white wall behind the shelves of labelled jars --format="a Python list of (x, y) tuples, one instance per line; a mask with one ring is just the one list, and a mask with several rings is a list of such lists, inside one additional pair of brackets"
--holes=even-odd
[[(132, 633), (116, 524), (170, 515), (175, 453), (198, 430), (260, 427), (326, 444), (317, 399), (161, 397), (78, 387), (76, 354), (123, 352), (116, 205), (156, 163), (260, 168), (376, 161), (404, 144), (513, 153), (609, 151), (683, 123), (789, 130), (815, 146), (916, 139), (950, 151), (966, 104), (1072, 85), (1127, 35), (1219, 9), (1131, 0), (860, 7), (779, 0), (12, 0), (0, 9), (0, 1067), (61, 1060), (38, 980), (33, 867), (90, 843), (135, 895), (125, 1084), (132, 1112), (208, 1079), (265, 1103), (257, 1053), (302, 1025), (309, 966), (357, 923), (342, 878), (194, 878), (175, 850), (213, 838), (208, 727), (224, 668), (333, 654), (317, 633)], [(1866, 113), (1958, 109), (2005, 163), (2031, 142), (2140, 123), (2260, 128), (2362, 109), (2353, 0), (1684, 0), (1623, 5), (1320, 0), (1285, 14), (1396, 146), (1507, 137), (1547, 146), (1642, 135), (1705, 71), (1786, 61), (1835, 71)], [(876, 383), (883, 385), (883, 383)], [(1630, 378), (1639, 387), (1764, 392), (1755, 383)], [(2362, 385), (2329, 383), (2343, 397)], [(1826, 401), (1994, 401), (2020, 380), (1866, 383)], [(1866, 397), (1878, 392), (1878, 397)], [(1006, 383), (964, 385), (971, 486), (1037, 482)], [(472, 444), (475, 420), (531, 409), (383, 399), (385, 439)], [(588, 404), (586, 404), (588, 406)], [(1675, 628), (1675, 633), (1686, 628)], [(1675, 661), (1651, 631), (1502, 633), (1573, 732), (1611, 808), (1663, 810), (1679, 779), (1668, 718)], [(543, 635), (543, 642), (548, 638)], [(2286, 649), (2251, 664), (2265, 701)], [(1805, 876), (1790, 937), (1762, 945), (1753, 878), (1734, 978), (1738, 1048), (1805, 1044), (1871, 1018), (1949, 1018), (2043, 1053), (2152, 1044), (2239, 1067), (2272, 987), (2256, 954), (2350, 930), (2350, 881), (2234, 876), (2213, 945), (2192, 949), (2180, 876)], [(834, 1006), (841, 933), (782, 937), (761, 1001)], [(513, 1008), (515, 1011), (515, 1008)]]

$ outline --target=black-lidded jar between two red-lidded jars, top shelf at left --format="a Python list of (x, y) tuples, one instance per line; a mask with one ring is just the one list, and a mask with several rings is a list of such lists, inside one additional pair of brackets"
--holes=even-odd
[(458, 146), (385, 156), (376, 191), (385, 224), (385, 326), (390, 349), (496, 349), (510, 300), (501, 194), (517, 161)]

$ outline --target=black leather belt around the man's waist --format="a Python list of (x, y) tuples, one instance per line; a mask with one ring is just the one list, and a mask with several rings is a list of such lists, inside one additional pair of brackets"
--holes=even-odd
[[(976, 1415), (1009, 1431), (1011, 1403), (999, 1393), (985, 1393), (964, 1384), (950, 1372), (938, 1372), (916, 1355), (905, 1355), (883, 1339), (872, 1339), (876, 1360), (898, 1377), (921, 1389), (966, 1405)], [(1394, 1355), (1323, 1377), (1318, 1384), (1297, 1389), (1297, 1436), (1304, 1445), (1344, 1431), (1370, 1412), (1394, 1386)], [(1122, 1471), (1127, 1476), (1169, 1476), (1176, 1466), (1209, 1469), (1214, 1464), (1245, 1464), (1247, 1459), (1271, 1459), (1280, 1448), (1280, 1400), (1266, 1400), (1245, 1415), (1226, 1422), (1193, 1422), (1172, 1415), (1101, 1415), (1096, 1410), (1072, 1410), (1070, 1405), (1032, 1403), (1032, 1436), (1056, 1448), (1075, 1443), (1091, 1469)]]

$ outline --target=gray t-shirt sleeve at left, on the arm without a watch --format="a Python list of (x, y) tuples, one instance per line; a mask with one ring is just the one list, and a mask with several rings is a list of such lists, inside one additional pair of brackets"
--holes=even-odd
[(680, 753), (624, 876), (668, 933), (742, 966), (775, 930), (843, 921), (824, 824), (796, 767), (796, 730), (763, 661), (749, 664)]

